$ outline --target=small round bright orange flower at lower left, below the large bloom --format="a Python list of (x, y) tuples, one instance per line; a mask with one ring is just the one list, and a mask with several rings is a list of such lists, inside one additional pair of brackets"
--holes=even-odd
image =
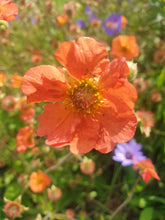
[(51, 183), (50, 177), (41, 170), (31, 173), (29, 178), (29, 187), (35, 193), (42, 192)]

